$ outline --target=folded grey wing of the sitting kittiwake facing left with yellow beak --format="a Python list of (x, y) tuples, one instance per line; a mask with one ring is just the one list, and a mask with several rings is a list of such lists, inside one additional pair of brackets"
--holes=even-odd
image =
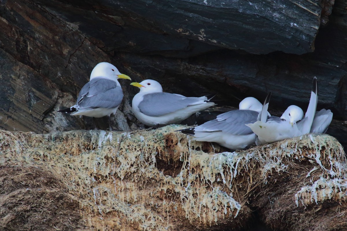
[(191, 105), (203, 104), (201, 97), (185, 97), (167, 92), (150, 93), (138, 104), (140, 112), (148, 116), (162, 116)]

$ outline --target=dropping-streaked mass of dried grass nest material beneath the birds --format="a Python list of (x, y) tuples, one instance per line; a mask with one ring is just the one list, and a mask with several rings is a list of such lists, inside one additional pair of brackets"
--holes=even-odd
[[(309, 134), (230, 153), (174, 132), (180, 128), (1, 131), (6, 199), (0, 199), (0, 227), (237, 230), (256, 208), (273, 228), (279, 224), (268, 210), (276, 216), (298, 211), (286, 217), (290, 230), (308, 206), (346, 199), (346, 157), (331, 136)], [(13, 192), (20, 196), (11, 197)], [(272, 193), (287, 207), (274, 207), (275, 197), (265, 196)]]

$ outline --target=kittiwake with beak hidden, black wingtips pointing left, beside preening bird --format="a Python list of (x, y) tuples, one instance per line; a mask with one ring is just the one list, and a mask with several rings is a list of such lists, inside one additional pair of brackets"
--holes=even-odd
[(255, 135), (245, 124), (257, 121), (262, 104), (253, 97), (247, 97), (233, 110), (217, 116), (216, 119), (193, 128), (180, 130), (194, 136), (196, 141), (216, 142), (226, 148), (245, 149), (254, 144)]

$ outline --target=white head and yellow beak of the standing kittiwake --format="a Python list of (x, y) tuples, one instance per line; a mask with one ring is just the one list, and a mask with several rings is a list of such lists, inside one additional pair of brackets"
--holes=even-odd
[(90, 74), (90, 80), (92, 80), (93, 78), (104, 78), (104, 79), (110, 79), (110, 80), (117, 80), (117, 79), (131, 80), (128, 75), (121, 74), (114, 65), (107, 62), (98, 63), (94, 67), (94, 69), (92, 70), (92, 73)]

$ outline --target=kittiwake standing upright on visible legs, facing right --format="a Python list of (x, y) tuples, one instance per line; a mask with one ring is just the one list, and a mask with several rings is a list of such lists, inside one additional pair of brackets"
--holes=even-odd
[(119, 78), (131, 80), (128, 75), (121, 74), (111, 63), (97, 64), (90, 74), (90, 81), (79, 92), (76, 104), (58, 112), (96, 118), (108, 116), (110, 131), (112, 131), (110, 116), (116, 113), (123, 99)]

